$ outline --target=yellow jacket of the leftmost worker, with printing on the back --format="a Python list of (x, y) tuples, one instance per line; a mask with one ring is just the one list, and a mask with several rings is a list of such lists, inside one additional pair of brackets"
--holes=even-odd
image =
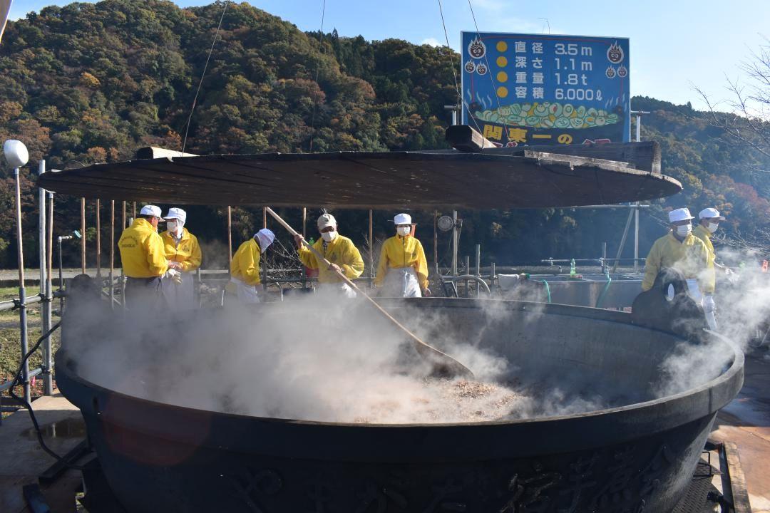
[(162, 276), (168, 269), (163, 241), (145, 218), (136, 218), (123, 230), (118, 248), (123, 272), (129, 278)]

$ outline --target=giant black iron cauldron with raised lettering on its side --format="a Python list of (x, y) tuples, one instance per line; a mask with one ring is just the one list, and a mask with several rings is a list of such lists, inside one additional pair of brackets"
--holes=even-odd
[[(524, 370), (577, 373), (628, 391), (629, 402), (524, 421), (356, 425), (227, 415), (122, 395), (79, 377), (66, 349), (56, 356), (56, 378), (81, 409), (109, 485), (132, 513), (665, 513), (685, 491), (716, 411), (742, 386), (742, 353), (718, 339), (728, 356), (721, 373), (652, 398), (659, 365), (681, 339), (632, 325), (621, 312), (497, 301), (494, 318), (484, 319), (484, 301), (382, 302), (405, 321), (415, 311), (440, 313), (442, 329), (470, 333), (490, 321), (481, 344)], [(219, 314), (196, 317), (207, 315)]]

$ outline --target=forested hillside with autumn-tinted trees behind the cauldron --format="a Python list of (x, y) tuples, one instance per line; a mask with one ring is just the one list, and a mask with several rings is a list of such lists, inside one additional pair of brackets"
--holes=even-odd
[[(179, 8), (161, 0), (106, 0), (49, 7), (9, 22), (0, 45), (0, 138), (28, 146), (30, 169), (46, 158), (68, 168), (131, 158), (136, 148), (182, 149), (187, 118), (223, 3)], [(459, 56), (451, 55), (454, 65)], [(250, 5), (230, 4), (214, 47), (186, 151), (209, 153), (383, 151), (444, 148), (455, 102), (450, 51), (397, 39), (304, 33)], [(652, 98), (642, 137), (663, 148), (664, 172), (685, 192), (642, 215), (641, 248), (661, 235), (665, 208), (725, 211), (728, 237), (770, 246), (770, 159), (728, 142), (705, 113)], [(15, 264), (13, 180), (2, 168), (0, 266)], [(27, 172), (28, 173), (28, 172)], [(25, 180), (25, 253), (35, 264), (35, 189)], [(387, 194), (386, 192), (383, 192)], [(166, 205), (162, 205), (166, 206)], [(190, 208), (189, 228), (208, 244), (226, 241), (224, 208)], [(313, 214), (316, 211), (312, 212)], [(298, 212), (290, 212), (293, 219)], [(366, 212), (338, 212), (340, 230), (363, 242)], [(94, 205), (89, 203), (89, 226)], [(390, 235), (376, 212), (376, 235)], [(485, 261), (598, 256), (617, 248), (625, 211), (559, 209), (463, 212), (462, 252), (482, 245)], [(432, 212), (417, 212), (432, 223)], [(236, 243), (261, 212), (236, 208)], [(102, 234), (108, 212), (102, 211)], [(76, 198), (56, 199), (57, 232), (79, 226)], [(430, 226), (430, 225), (428, 225)], [(89, 230), (89, 237), (95, 230)], [(423, 225), (418, 235), (429, 237)], [(283, 236), (283, 234), (282, 234)], [(90, 244), (90, 243), (89, 243)], [(106, 245), (104, 242), (103, 245)], [(440, 253), (445, 254), (444, 242)], [(75, 248), (68, 256), (74, 265)], [(630, 245), (627, 255), (630, 255)], [(106, 255), (107, 252), (104, 250)], [(93, 258), (93, 256), (91, 256)], [(212, 260), (209, 260), (209, 263)], [(90, 262), (92, 264), (93, 262)]]

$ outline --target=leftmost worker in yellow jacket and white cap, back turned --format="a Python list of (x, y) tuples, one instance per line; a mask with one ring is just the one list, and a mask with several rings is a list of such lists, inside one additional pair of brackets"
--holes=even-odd
[(118, 241), (126, 290), (123, 297), (129, 308), (156, 308), (162, 297), (162, 275), (169, 268), (163, 241), (158, 235), (160, 208), (145, 205), (139, 217), (123, 230)]

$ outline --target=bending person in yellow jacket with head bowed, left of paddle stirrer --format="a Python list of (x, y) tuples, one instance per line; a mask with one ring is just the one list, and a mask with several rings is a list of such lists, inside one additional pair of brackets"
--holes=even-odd
[[(259, 285), (262, 280), (259, 278), (259, 261), (262, 255), (267, 251), (269, 245), (276, 240), (276, 235), (262, 228), (256, 232), (253, 238), (239, 246), (233, 260), (230, 261), (230, 284), (235, 287), (235, 294), (238, 300), (246, 305), (259, 303)], [(233, 291), (228, 287), (229, 291)]]

